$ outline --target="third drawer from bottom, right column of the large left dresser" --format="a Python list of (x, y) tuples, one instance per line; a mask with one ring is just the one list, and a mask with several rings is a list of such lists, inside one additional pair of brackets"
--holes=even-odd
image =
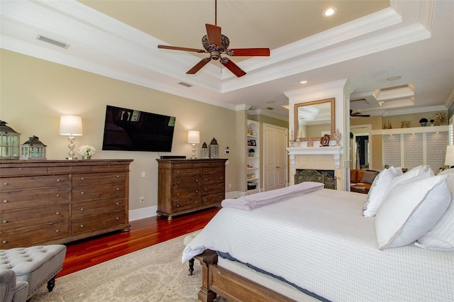
[(72, 202), (88, 201), (90, 199), (124, 197), (126, 195), (126, 186), (122, 184), (96, 184), (85, 186), (74, 186), (72, 188)]

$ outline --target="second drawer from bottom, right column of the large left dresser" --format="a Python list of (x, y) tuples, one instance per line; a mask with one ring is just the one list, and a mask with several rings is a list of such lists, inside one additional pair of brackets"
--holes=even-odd
[(85, 201), (71, 205), (71, 217), (82, 218), (115, 211), (125, 211), (125, 198), (104, 201)]

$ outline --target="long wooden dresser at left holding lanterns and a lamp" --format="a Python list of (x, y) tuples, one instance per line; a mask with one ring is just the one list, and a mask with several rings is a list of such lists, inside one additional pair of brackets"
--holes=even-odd
[(0, 162), (0, 248), (128, 230), (132, 160)]

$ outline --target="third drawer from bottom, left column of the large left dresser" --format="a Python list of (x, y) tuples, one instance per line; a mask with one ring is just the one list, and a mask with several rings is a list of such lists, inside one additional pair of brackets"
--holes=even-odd
[(70, 188), (65, 186), (23, 191), (0, 191), (0, 208), (2, 211), (17, 208), (38, 208), (69, 202)]

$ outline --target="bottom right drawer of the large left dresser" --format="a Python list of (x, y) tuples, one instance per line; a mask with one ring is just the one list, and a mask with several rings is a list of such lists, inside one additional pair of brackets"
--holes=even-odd
[(71, 222), (71, 235), (89, 233), (127, 223), (125, 211), (79, 218)]

